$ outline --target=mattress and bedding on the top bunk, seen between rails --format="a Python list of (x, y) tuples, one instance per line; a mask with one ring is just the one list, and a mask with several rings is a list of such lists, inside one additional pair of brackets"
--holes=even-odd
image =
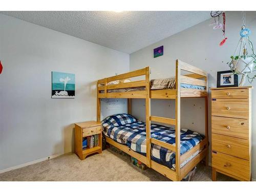
[[(107, 84), (107, 86), (112, 85), (112, 84), (118, 84), (118, 83), (119, 83), (119, 81), (111, 81)], [(176, 86), (175, 78), (164, 78), (164, 79), (152, 79), (151, 80), (151, 90), (175, 89), (175, 86)], [(203, 87), (203, 86), (195, 86), (193, 84), (186, 84), (186, 83), (180, 83), (180, 87), (186, 88), (186, 89), (205, 90), (205, 87)], [(145, 87), (113, 89), (113, 90), (108, 90), (108, 93), (131, 92), (131, 91), (145, 91)], [(100, 91), (100, 93), (104, 93), (104, 91)]]

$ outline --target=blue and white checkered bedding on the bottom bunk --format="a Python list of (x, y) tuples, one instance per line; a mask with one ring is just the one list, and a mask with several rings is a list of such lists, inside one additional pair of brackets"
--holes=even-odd
[[(135, 117), (128, 114), (117, 114), (105, 118), (102, 121), (102, 125), (105, 136), (129, 146), (135, 152), (146, 155), (146, 124), (144, 122), (138, 121)], [(151, 124), (151, 138), (175, 145), (175, 129)], [(180, 154), (184, 154), (203, 139), (203, 135), (188, 129), (181, 129)], [(153, 143), (151, 159), (175, 169), (175, 152)]]

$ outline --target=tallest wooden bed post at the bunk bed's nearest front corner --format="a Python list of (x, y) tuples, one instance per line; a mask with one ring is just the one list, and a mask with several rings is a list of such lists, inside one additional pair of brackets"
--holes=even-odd
[(176, 98), (175, 98), (175, 153), (176, 153), (176, 181), (180, 181), (180, 66), (176, 60)]

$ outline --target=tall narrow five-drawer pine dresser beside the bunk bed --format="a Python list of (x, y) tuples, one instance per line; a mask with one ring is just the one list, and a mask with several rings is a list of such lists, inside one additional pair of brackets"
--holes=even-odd
[(217, 172), (251, 179), (251, 89), (211, 89), (212, 181)]

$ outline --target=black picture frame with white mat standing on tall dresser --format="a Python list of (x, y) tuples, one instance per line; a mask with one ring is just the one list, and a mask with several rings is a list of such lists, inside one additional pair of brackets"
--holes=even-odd
[(217, 72), (217, 88), (238, 87), (238, 75), (232, 71)]

